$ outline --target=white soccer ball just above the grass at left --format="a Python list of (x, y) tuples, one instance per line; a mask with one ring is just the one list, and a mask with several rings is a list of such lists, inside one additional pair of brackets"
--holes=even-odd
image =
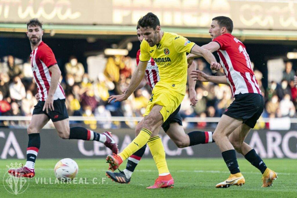
[[(78, 173), (78, 165), (73, 159), (65, 158), (57, 162), (54, 173), (56, 178), (61, 180), (72, 180)], [(63, 180), (63, 179), (62, 179)]]

